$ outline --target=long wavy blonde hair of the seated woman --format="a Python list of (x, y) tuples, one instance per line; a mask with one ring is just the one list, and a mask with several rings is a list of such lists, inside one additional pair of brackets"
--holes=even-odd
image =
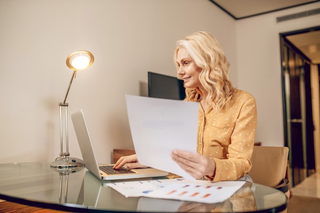
[[(202, 69), (199, 81), (208, 93), (205, 101), (211, 103), (217, 112), (225, 109), (232, 101), (235, 88), (228, 77), (230, 64), (217, 39), (208, 32), (196, 32), (177, 41), (175, 61), (180, 48), (185, 48), (195, 64)], [(176, 66), (178, 70), (178, 64)], [(199, 88), (186, 88), (185, 101), (198, 102), (200, 99)]]

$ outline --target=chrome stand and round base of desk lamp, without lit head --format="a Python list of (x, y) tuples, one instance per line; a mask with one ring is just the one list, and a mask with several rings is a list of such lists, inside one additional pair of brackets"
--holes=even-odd
[[(73, 73), (73, 76), (71, 78), (69, 87), (67, 89), (67, 92), (65, 94), (64, 102), (59, 103), (60, 106), (60, 157), (57, 157), (54, 162), (50, 164), (50, 167), (55, 167), (59, 169), (63, 168), (80, 168), (84, 167), (83, 160), (74, 158), (74, 157), (69, 157), (69, 145), (68, 145), (68, 104), (65, 103), (66, 97), (68, 95), (69, 89), (71, 87), (72, 81), (76, 76), (76, 70)], [(62, 107), (65, 108), (65, 147), (66, 147), (66, 152), (63, 152), (63, 128), (62, 128)]]

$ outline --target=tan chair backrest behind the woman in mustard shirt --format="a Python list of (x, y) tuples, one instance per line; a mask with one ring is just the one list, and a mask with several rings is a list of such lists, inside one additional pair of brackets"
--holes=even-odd
[(276, 187), (286, 176), (288, 147), (254, 146), (249, 176), (255, 183)]

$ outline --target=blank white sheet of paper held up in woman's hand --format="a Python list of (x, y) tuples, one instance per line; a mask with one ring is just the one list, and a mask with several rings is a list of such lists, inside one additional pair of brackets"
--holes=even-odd
[(139, 162), (195, 180), (171, 159), (171, 152), (196, 153), (199, 104), (131, 95), (126, 95), (126, 102)]

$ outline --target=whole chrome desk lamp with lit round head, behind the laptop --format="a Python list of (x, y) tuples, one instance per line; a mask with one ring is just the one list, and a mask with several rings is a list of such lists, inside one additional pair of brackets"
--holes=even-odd
[[(60, 157), (57, 157), (54, 162), (50, 164), (51, 167), (58, 169), (65, 168), (81, 168), (84, 167), (83, 160), (78, 158), (69, 157), (68, 150), (68, 103), (65, 103), (68, 96), (72, 81), (76, 78), (76, 73), (79, 70), (88, 68), (94, 62), (94, 56), (88, 51), (76, 51), (66, 58), (66, 65), (74, 70), (68, 89), (66, 91), (63, 103), (59, 103), (60, 106)], [(62, 107), (65, 108), (65, 147), (66, 152), (63, 152), (63, 128), (62, 128)]]

